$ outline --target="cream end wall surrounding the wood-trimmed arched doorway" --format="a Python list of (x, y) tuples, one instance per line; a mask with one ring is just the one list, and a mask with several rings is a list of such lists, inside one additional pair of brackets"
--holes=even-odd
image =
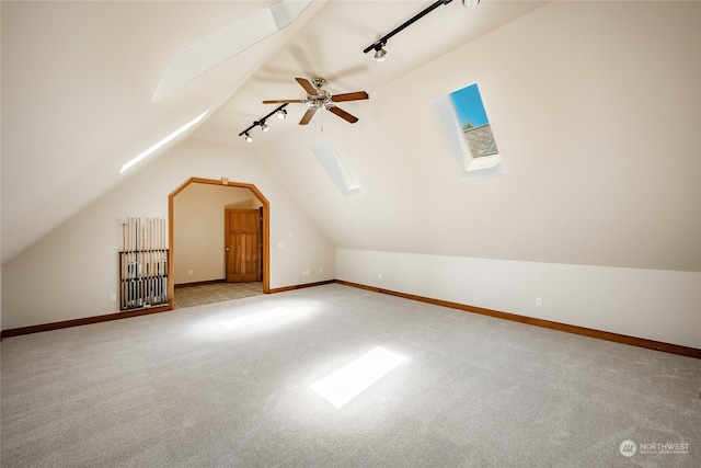
[(168, 218), (169, 195), (191, 178), (251, 183), (268, 199), (271, 288), (334, 277), (333, 247), (253, 152), (188, 139), (139, 169), (2, 266), (3, 330), (118, 312), (108, 295), (118, 292), (120, 224)]

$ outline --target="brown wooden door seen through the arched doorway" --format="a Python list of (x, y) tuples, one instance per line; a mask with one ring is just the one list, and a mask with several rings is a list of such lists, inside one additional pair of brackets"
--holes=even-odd
[(227, 209), (225, 219), (228, 283), (262, 281), (262, 214), (258, 209)]

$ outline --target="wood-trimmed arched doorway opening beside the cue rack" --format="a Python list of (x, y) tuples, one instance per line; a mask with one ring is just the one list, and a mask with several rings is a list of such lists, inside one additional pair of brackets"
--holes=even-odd
[[(256, 213), (257, 237), (244, 229), (230, 239), (230, 210)], [(192, 178), (169, 195), (169, 228), (171, 309), (269, 293), (269, 203), (255, 185)], [(244, 270), (255, 277), (229, 275), (232, 247), (248, 255)], [(234, 266), (241, 270), (240, 258)]]

